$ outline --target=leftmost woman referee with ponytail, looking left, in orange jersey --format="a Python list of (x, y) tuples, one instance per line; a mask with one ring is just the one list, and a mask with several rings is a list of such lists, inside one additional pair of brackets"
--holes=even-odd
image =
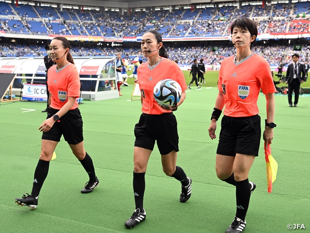
[(18, 205), (31, 208), (36, 208), (38, 205), (39, 193), (47, 177), (49, 161), (62, 135), (89, 175), (89, 182), (81, 192), (90, 193), (99, 183), (92, 158), (84, 150), (83, 121), (77, 101), (80, 81), (78, 69), (70, 54), (69, 41), (64, 37), (55, 37), (50, 43), (50, 55), (57, 65), (48, 69), (49, 108), (47, 119), (39, 128), (43, 132), (41, 154), (34, 171), (32, 192), (31, 195), (15, 199)]

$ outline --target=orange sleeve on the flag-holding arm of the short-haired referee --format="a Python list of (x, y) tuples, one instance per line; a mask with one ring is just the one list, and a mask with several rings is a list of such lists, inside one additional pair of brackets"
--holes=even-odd
[(275, 84), (273, 83), (269, 63), (263, 58), (261, 59), (259, 67), (256, 71), (256, 80), (258, 80), (261, 84), (263, 94), (274, 93), (277, 91)]

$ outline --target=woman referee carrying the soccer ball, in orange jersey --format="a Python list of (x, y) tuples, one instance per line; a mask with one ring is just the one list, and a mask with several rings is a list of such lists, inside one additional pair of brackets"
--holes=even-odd
[[(160, 33), (155, 30), (143, 34), (141, 50), (148, 62), (138, 68), (138, 83), (141, 90), (142, 115), (135, 126), (133, 189), (136, 210), (125, 221), (127, 228), (137, 226), (146, 217), (143, 208), (145, 190), (145, 172), (155, 141), (161, 154), (163, 171), (181, 182), (180, 201), (186, 202), (191, 195), (191, 179), (179, 166), (176, 166), (177, 151), (179, 151), (179, 136), (177, 121), (172, 111), (175, 111), (185, 99), (185, 77), (178, 65), (168, 58)], [(154, 98), (154, 87), (161, 80), (171, 79), (180, 84), (182, 98), (175, 105), (159, 105)]]

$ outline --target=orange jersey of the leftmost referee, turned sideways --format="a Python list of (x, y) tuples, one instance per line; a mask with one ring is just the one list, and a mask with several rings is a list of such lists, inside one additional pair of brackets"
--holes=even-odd
[[(48, 91), (51, 94), (50, 107), (61, 109), (68, 101), (68, 97), (79, 97), (80, 81), (78, 69), (75, 65), (68, 65), (57, 70), (57, 65), (47, 71)], [(75, 100), (70, 110), (78, 108), (78, 101)]]

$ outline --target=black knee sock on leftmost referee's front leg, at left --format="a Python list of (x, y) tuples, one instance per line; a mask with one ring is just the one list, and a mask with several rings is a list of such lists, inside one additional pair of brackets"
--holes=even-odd
[(38, 165), (36, 166), (34, 171), (33, 185), (31, 191), (31, 196), (36, 199), (37, 197), (39, 197), (42, 185), (47, 178), (48, 168), (49, 161), (39, 159)]

